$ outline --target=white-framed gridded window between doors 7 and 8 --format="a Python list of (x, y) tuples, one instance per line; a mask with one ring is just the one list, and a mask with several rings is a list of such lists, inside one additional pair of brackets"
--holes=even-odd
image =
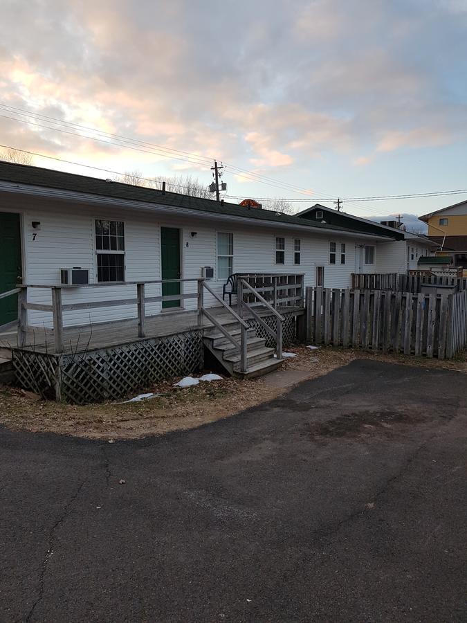
[(125, 281), (125, 228), (123, 221), (95, 220), (98, 282)]

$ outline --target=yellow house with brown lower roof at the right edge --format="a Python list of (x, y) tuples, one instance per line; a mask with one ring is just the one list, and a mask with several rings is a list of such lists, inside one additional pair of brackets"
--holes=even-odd
[(449, 255), (467, 276), (467, 201), (419, 217), (428, 224), (428, 236), (438, 245), (438, 255)]

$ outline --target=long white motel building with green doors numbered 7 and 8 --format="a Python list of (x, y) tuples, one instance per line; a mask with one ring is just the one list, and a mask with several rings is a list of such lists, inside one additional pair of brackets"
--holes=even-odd
[[(231, 273), (304, 274), (304, 285), (350, 287), (351, 273), (403, 271), (395, 260), (404, 233), (333, 213), (322, 218), (288, 216), (260, 208), (211, 201), (150, 188), (0, 162), (0, 292), (28, 285), (60, 285), (61, 269), (79, 267), (90, 283), (115, 287), (66, 291), (67, 303), (125, 298), (125, 282), (201, 278), (212, 267), (210, 287), (222, 294)], [(345, 220), (344, 220), (345, 219)], [(394, 255), (394, 258), (393, 258)], [(196, 291), (196, 283), (165, 286)], [(191, 290), (192, 289), (192, 290)], [(147, 285), (146, 296), (160, 296)], [(37, 305), (50, 291), (32, 289)], [(4, 300), (3, 300), (4, 301)], [(0, 299), (0, 304), (3, 303)], [(184, 301), (196, 309), (196, 299)], [(206, 304), (217, 304), (208, 296)], [(180, 301), (148, 303), (146, 314), (178, 307)], [(132, 306), (68, 311), (65, 325), (134, 318)], [(15, 308), (0, 306), (0, 325)], [(28, 324), (51, 326), (51, 313), (28, 310)]]

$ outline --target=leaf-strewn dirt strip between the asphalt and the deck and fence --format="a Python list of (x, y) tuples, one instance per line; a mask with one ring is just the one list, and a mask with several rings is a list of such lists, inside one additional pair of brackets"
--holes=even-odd
[[(448, 368), (467, 373), (465, 358), (438, 361), (331, 347), (309, 350), (304, 346), (296, 346), (289, 347), (287, 351), (295, 353), (295, 357), (284, 361), (284, 369), (302, 370), (309, 379), (327, 374), (354, 359), (376, 359), (387, 363)], [(172, 379), (146, 388), (147, 392), (159, 394), (147, 401), (86, 406), (44, 401), (30, 392), (0, 386), (0, 424), (34, 432), (108, 440), (146, 437), (214, 422), (273, 400), (290, 389), (271, 386), (264, 378), (250, 381), (226, 378), (185, 389), (174, 388), (177, 380)]]

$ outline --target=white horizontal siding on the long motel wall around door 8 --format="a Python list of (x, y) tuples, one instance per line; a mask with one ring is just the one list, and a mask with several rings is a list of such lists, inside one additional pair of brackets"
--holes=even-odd
[[(125, 222), (125, 279), (127, 281), (149, 281), (161, 279), (161, 226), (181, 229), (182, 277), (201, 277), (201, 267), (214, 268), (214, 279), (210, 287), (221, 296), (223, 281), (217, 280), (217, 232), (228, 231), (234, 235), (234, 272), (286, 272), (304, 273), (305, 285), (315, 285), (316, 267), (324, 267), (325, 287), (343, 288), (350, 286), (350, 275), (358, 271), (358, 255), (365, 244), (374, 244), (375, 263), (362, 266), (363, 272), (383, 270), (383, 248), (392, 244), (358, 240), (358, 238), (329, 236), (311, 231), (293, 231), (286, 228), (262, 227), (255, 224), (232, 224), (212, 219), (193, 217), (161, 216), (129, 208), (106, 206), (96, 208), (79, 204), (60, 204), (51, 201), (23, 199), (24, 213), (24, 255), (25, 275), (28, 284), (59, 285), (59, 269), (79, 266), (90, 271), (90, 282), (97, 282), (96, 255), (94, 249), (94, 219), (116, 219)], [(8, 208), (6, 208), (8, 210)], [(40, 231), (33, 230), (31, 221), (41, 223)], [(37, 235), (34, 238), (34, 233)], [(196, 233), (192, 236), (191, 233)], [(275, 237), (285, 238), (285, 264), (275, 264)], [(301, 263), (294, 264), (293, 240), (301, 240)], [(336, 264), (329, 263), (329, 242), (336, 242)], [(345, 264), (340, 264), (340, 244), (345, 243)], [(402, 243), (405, 244), (405, 243)], [(357, 269), (357, 270), (356, 270)], [(183, 291), (196, 292), (196, 283), (183, 284)], [(161, 294), (160, 285), (148, 285), (147, 296)], [(136, 286), (115, 285), (95, 288), (76, 288), (64, 290), (64, 303), (91, 302), (95, 300), (115, 300), (134, 298)], [(50, 303), (50, 291), (30, 290), (29, 300), (35, 303)], [(206, 296), (207, 305), (215, 304), (212, 297)], [(195, 309), (196, 300), (185, 301), (185, 309)], [(147, 305), (147, 314), (161, 310), (160, 303)], [(88, 325), (111, 320), (136, 317), (136, 305), (103, 307), (102, 309), (67, 311), (64, 324)], [(42, 311), (29, 311), (28, 321), (36, 326), (51, 326), (51, 314)]]

